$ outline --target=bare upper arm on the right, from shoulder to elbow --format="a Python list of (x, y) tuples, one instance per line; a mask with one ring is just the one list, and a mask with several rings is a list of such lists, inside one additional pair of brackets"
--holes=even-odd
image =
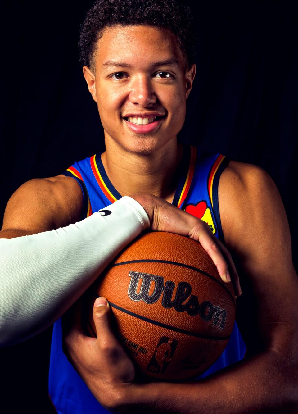
[(243, 290), (238, 325), (248, 351), (297, 351), (298, 279), (279, 193), (262, 169), (240, 163), (227, 171), (220, 185), (223, 231)]

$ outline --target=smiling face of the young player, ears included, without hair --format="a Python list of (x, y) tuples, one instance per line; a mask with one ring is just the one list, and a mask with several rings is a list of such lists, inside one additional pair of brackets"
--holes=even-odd
[(185, 120), (195, 65), (185, 61), (175, 36), (153, 26), (114, 26), (99, 39), (95, 75), (84, 66), (109, 142), (152, 154), (176, 140)]

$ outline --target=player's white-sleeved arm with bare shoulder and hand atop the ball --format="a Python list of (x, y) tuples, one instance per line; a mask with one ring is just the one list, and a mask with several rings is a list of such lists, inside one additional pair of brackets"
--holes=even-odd
[(81, 209), (81, 188), (70, 177), (32, 180), (12, 195), (0, 232), (0, 345), (50, 326), (150, 225), (199, 240), (226, 274), (209, 228), (157, 197), (122, 197), (106, 207), (111, 214), (96, 212), (78, 221)]

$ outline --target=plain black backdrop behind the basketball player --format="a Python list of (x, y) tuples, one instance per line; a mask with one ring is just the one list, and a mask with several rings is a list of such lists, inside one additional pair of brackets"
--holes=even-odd
[[(92, 3), (14, 1), (2, 7), (1, 217), (19, 185), (57, 175), (104, 147), (78, 63), (79, 24)], [(291, 4), (192, 3), (197, 75), (180, 140), (269, 172), (286, 207), (297, 268), (298, 62)], [(2, 349), (2, 404), (10, 404), (10, 412), (52, 412), (49, 347), (50, 329)]]

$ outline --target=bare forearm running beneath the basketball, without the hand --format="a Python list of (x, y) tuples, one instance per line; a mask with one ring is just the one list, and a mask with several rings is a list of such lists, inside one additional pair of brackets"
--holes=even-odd
[[(272, 351), (235, 364), (209, 379), (190, 383), (132, 385), (120, 412), (232, 414), (298, 411), (297, 375)], [(285, 412), (285, 411), (283, 411)]]

